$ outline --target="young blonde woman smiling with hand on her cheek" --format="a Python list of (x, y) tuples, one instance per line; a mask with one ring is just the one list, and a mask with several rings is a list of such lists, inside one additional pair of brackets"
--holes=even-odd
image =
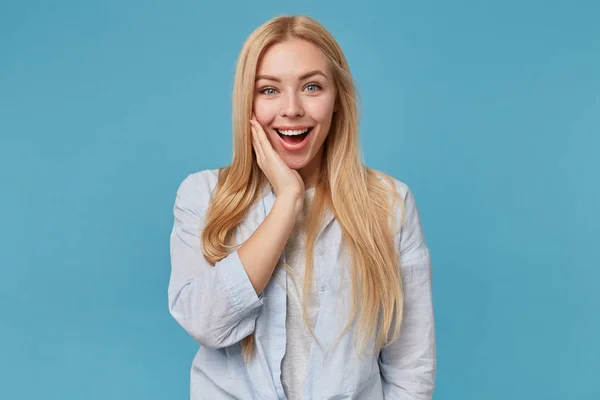
[[(365, 167), (346, 59), (277, 17), (238, 59), (234, 155), (175, 200), (169, 310), (192, 399), (431, 399), (431, 262), (414, 197)], [(392, 122), (393, 123), (393, 122)]]

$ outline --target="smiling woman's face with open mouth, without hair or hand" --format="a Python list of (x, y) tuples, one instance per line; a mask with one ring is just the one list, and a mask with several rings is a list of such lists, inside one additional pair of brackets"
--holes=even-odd
[(271, 145), (305, 183), (313, 181), (336, 96), (327, 61), (304, 40), (274, 44), (259, 61), (254, 89), (253, 111)]

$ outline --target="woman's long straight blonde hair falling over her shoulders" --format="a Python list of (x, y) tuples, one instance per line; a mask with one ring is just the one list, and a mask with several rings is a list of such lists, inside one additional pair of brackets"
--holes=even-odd
[[(329, 209), (341, 228), (342, 246), (351, 255), (353, 302), (351, 318), (343, 332), (359, 315), (363, 343), (377, 333), (375, 344), (383, 347), (397, 339), (402, 321), (402, 279), (398, 246), (394, 243), (398, 227), (393, 224), (394, 205), (399, 196), (389, 176), (362, 163), (358, 94), (348, 63), (331, 34), (310, 17), (275, 17), (256, 29), (242, 47), (233, 91), (233, 161), (220, 170), (207, 211), (202, 232), (204, 256), (214, 265), (239, 246), (230, 244), (234, 230), (247, 216), (250, 206), (260, 199), (268, 183), (257, 164), (250, 136), (255, 75), (264, 51), (272, 44), (291, 38), (306, 40), (321, 51), (337, 88), (336, 112), (323, 144), (322, 168), (306, 219), (304, 279), (305, 282), (312, 280), (314, 244), (322, 217)], [(304, 285), (303, 299), (307, 298), (308, 288), (309, 285)], [(305, 300), (303, 309), (306, 322)], [(242, 339), (241, 345), (247, 361), (254, 352), (254, 335)]]

